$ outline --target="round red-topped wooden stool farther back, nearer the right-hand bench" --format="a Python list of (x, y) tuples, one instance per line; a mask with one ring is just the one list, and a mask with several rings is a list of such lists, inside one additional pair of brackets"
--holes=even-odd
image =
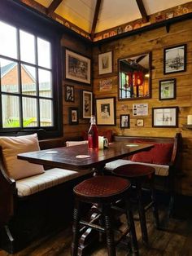
[[(155, 169), (151, 166), (144, 166), (140, 164), (128, 164), (119, 166), (112, 170), (113, 174), (119, 177), (129, 179), (132, 183), (132, 188), (136, 189), (137, 203), (138, 203), (138, 214), (142, 230), (142, 241), (144, 244), (148, 244), (148, 235), (146, 228), (146, 210), (151, 207), (153, 209), (153, 215), (155, 218), (155, 227), (159, 228), (159, 214), (157, 203), (155, 199), (155, 188), (154, 188), (154, 177)], [(142, 200), (142, 188), (144, 183), (149, 183), (149, 190), (151, 192), (151, 202), (146, 205), (143, 204)]]

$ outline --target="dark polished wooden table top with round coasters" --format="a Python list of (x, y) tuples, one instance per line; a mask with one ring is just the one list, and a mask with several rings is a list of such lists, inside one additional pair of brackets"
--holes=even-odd
[(26, 152), (18, 155), (18, 159), (39, 165), (58, 168), (82, 170), (104, 166), (109, 161), (128, 157), (136, 152), (153, 148), (154, 145), (146, 143), (110, 143), (105, 149), (89, 149), (88, 144), (72, 147), (51, 148), (36, 152)]

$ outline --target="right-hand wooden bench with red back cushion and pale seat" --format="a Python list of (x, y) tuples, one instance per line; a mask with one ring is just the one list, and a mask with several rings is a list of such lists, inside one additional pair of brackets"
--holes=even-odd
[(154, 148), (146, 152), (139, 152), (129, 159), (119, 159), (106, 164), (106, 170), (113, 170), (118, 166), (127, 164), (142, 164), (155, 168), (155, 185), (158, 189), (164, 189), (170, 195), (169, 215), (175, 196), (175, 177), (180, 170), (181, 161), (181, 134), (174, 138), (156, 138), (141, 136), (114, 136), (116, 141), (128, 143), (152, 143)]

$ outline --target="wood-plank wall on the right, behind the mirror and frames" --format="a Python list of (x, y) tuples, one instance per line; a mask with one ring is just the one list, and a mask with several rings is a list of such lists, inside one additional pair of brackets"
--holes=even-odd
[[(164, 48), (187, 44), (186, 71), (164, 75)], [(98, 54), (112, 51), (113, 73), (98, 76)], [(118, 101), (118, 59), (129, 55), (137, 55), (146, 51), (152, 53), (152, 97), (151, 99), (135, 99)], [(94, 46), (94, 96), (95, 98), (116, 97), (116, 126), (111, 126), (117, 135), (144, 135), (158, 137), (172, 137), (176, 132), (181, 132), (183, 137), (182, 166), (184, 176), (180, 179), (179, 192), (192, 195), (192, 130), (186, 129), (188, 114), (192, 114), (192, 20), (185, 20), (170, 26), (169, 33), (162, 27), (149, 32), (140, 33), (127, 38), (121, 38), (113, 42), (103, 43), (101, 46)], [(111, 78), (112, 90), (99, 91), (99, 82), (102, 79)], [(177, 98), (170, 100), (159, 100), (159, 80), (167, 78), (177, 79)], [(144, 126), (137, 127), (137, 118), (133, 117), (133, 104), (148, 103), (149, 115), (143, 117)], [(179, 107), (178, 128), (153, 128), (151, 118), (152, 107)], [(130, 115), (130, 128), (120, 129), (120, 114)], [(107, 127), (103, 127), (106, 129)]]

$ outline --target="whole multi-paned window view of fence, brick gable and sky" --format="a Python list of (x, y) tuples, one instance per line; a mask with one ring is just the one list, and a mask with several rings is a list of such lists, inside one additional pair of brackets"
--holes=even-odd
[(3, 128), (54, 126), (51, 43), (0, 21)]

